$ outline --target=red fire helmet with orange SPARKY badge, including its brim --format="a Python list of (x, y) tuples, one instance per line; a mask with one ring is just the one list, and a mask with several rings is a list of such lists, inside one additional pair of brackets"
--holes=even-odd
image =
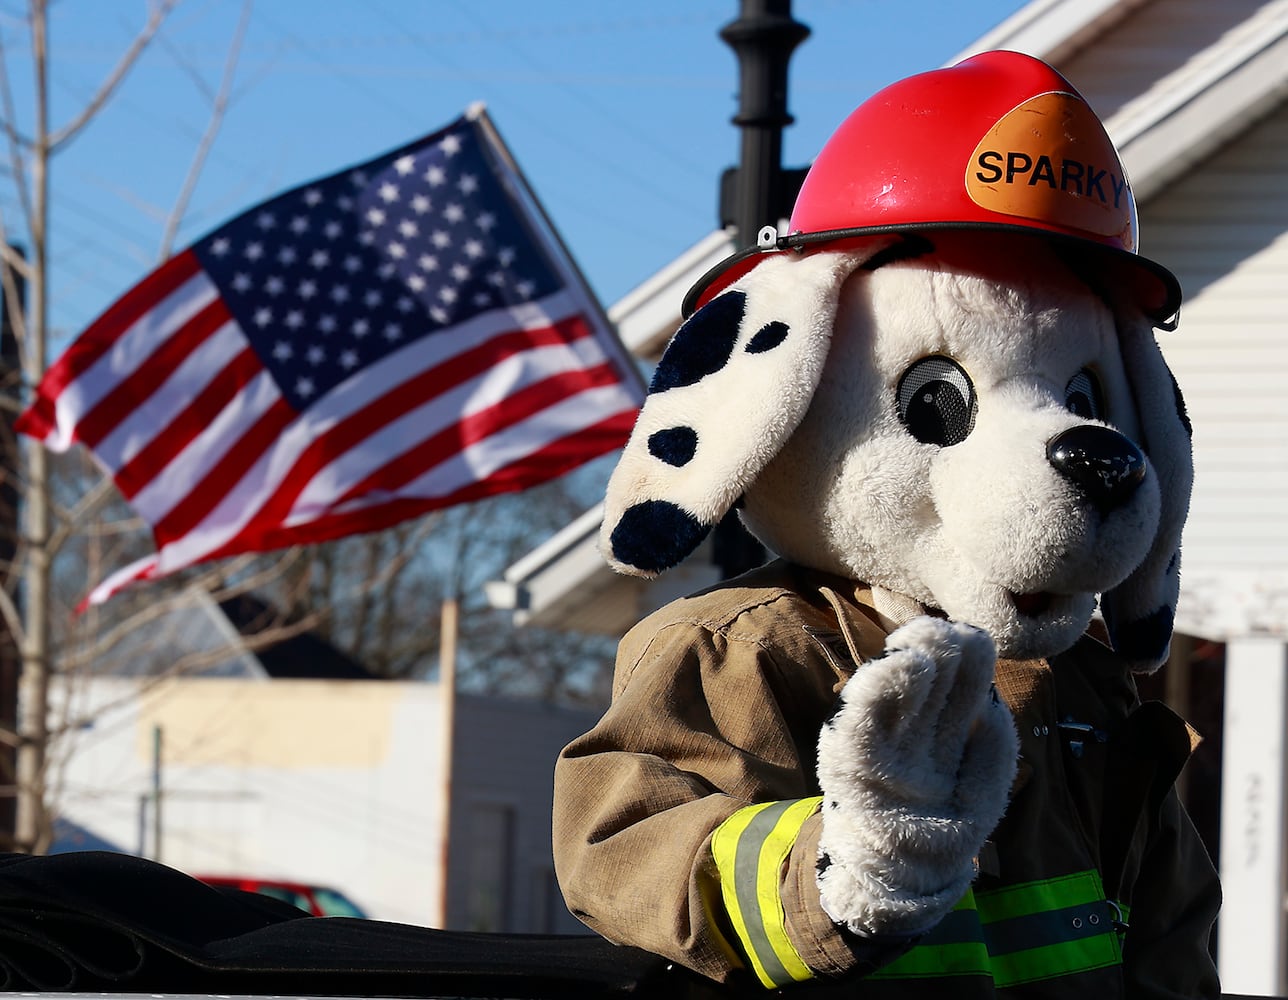
[(1136, 200), (1100, 119), (1041, 59), (987, 52), (860, 104), (810, 166), (788, 233), (708, 271), (684, 314), (766, 254), (945, 229), (1055, 241), (1160, 325), (1180, 308), (1176, 277), (1136, 253)]

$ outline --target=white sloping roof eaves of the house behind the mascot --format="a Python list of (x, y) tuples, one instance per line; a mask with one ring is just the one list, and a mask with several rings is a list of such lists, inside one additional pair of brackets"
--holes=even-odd
[[(1014, 49), (1057, 68), (1095, 62), (1097, 48), (1130, 19), (1148, 17), (1162, 0), (1033, 0), (945, 66), (989, 49)], [(1215, 8), (1213, 8), (1215, 9)], [(1160, 192), (1197, 162), (1288, 97), (1288, 4), (1256, 5), (1234, 30), (1215, 32), (1202, 48), (1105, 117), (1137, 202)], [(714, 232), (609, 309), (622, 339), (639, 357), (657, 357), (680, 323), (684, 293), (733, 250)], [(514, 563), (489, 599), (515, 610), (519, 624), (623, 631), (638, 617), (639, 581), (613, 573), (598, 554), (600, 509), (586, 512), (529, 557)], [(689, 563), (701, 562), (694, 554)], [(710, 559), (706, 561), (710, 563)], [(674, 573), (676, 571), (671, 571)], [(659, 581), (648, 586), (658, 588)], [(630, 593), (630, 599), (617, 599)], [(654, 590), (650, 604), (666, 597)]]

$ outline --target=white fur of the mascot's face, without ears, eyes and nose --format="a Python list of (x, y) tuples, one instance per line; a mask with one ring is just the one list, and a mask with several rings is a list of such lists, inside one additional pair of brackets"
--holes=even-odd
[[(855, 273), (841, 290), (814, 403), (747, 491), (743, 521), (774, 552), (943, 608), (989, 631), (1005, 656), (1047, 656), (1086, 629), (1095, 595), (1149, 550), (1154, 472), (1101, 517), (1046, 457), (1084, 423), (1064, 389), (1082, 367), (1108, 416), (1135, 429), (1114, 317), (1054, 256), (981, 277), (914, 259)], [(900, 423), (899, 376), (947, 354), (978, 393), (975, 429), (952, 447)], [(1016, 611), (1015, 594), (1051, 607)]]

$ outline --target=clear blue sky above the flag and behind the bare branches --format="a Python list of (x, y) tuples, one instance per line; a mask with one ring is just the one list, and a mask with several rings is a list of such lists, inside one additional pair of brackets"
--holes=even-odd
[[(784, 164), (805, 165), (864, 98), (951, 59), (1021, 0), (796, 0)], [(24, 3), (0, 0), (14, 116), (31, 122)], [(142, 0), (50, 9), (52, 124), (142, 26)], [(240, 0), (183, 0), (107, 108), (53, 165), (50, 318), (76, 334), (158, 260), (210, 117)], [(223, 128), (176, 247), (264, 198), (370, 159), (483, 101), (605, 305), (716, 224), (734, 164), (737, 0), (258, 0)], [(8, 164), (8, 159), (0, 161)], [(22, 238), (13, 174), (0, 210)]]

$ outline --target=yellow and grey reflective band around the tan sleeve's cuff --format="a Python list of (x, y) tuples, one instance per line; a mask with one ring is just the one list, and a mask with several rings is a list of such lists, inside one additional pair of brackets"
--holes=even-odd
[(787, 937), (779, 879), (801, 826), (822, 802), (815, 796), (748, 805), (711, 836), (725, 910), (751, 968), (766, 987), (814, 977)]

